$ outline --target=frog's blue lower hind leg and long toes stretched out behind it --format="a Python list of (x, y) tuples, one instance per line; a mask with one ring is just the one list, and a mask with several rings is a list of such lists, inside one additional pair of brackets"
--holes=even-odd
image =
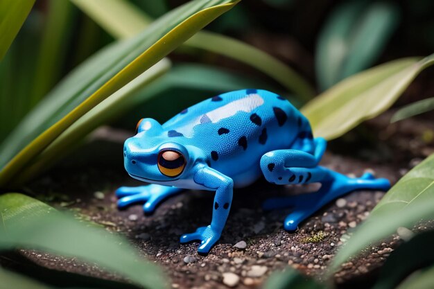
[(339, 198), (346, 193), (358, 189), (387, 191), (390, 189), (388, 179), (375, 179), (370, 173), (359, 178), (350, 178), (336, 173), (333, 170), (317, 166), (307, 169), (312, 174), (309, 183), (320, 182), (321, 188), (315, 193), (304, 193), (284, 198), (271, 198), (263, 203), (263, 209), (282, 209), (293, 207), (294, 210), (284, 221), (284, 228), (288, 231), (297, 229), (297, 226), (321, 209), (325, 204)]

